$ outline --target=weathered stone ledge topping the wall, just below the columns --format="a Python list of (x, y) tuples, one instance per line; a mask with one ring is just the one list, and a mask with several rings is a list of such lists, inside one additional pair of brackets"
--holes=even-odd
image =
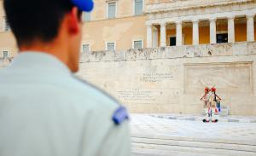
[(198, 58), (232, 55), (256, 55), (256, 42), (183, 45), (154, 49), (92, 51), (81, 54), (80, 63), (97, 61), (136, 61), (153, 59)]

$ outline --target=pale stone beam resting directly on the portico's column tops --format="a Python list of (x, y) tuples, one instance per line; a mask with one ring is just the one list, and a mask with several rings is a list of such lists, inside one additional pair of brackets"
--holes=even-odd
[(205, 9), (186, 9), (164, 12), (159, 14), (148, 14), (148, 23), (176, 22), (177, 20), (210, 20), (227, 19), (230, 16), (244, 17), (245, 15), (256, 15), (256, 3), (234, 4)]

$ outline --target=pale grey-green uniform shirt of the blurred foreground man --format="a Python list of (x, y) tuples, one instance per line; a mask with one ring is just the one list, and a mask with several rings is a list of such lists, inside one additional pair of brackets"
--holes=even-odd
[(54, 56), (21, 53), (0, 69), (0, 155), (130, 156), (119, 107)]

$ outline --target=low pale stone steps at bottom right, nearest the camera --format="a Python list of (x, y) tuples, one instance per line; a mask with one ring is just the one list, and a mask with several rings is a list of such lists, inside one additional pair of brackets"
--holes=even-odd
[(132, 137), (133, 153), (137, 156), (147, 155), (189, 155), (189, 156), (255, 156), (254, 144), (232, 142), (196, 142), (172, 139)]

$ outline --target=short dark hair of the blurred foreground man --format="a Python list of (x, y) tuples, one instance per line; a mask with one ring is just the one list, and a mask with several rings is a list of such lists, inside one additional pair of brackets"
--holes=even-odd
[(46, 43), (52, 41), (58, 34), (64, 15), (73, 8), (71, 0), (3, 1), (7, 20), (19, 46), (34, 39)]

